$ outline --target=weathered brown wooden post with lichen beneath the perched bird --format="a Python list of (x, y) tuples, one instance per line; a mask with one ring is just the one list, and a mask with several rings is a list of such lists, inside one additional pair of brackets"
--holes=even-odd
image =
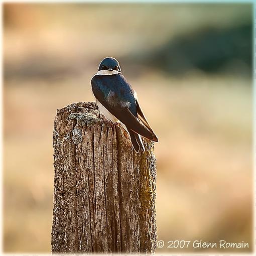
[(154, 252), (154, 145), (133, 151), (95, 102), (59, 109), (54, 121), (52, 252)]

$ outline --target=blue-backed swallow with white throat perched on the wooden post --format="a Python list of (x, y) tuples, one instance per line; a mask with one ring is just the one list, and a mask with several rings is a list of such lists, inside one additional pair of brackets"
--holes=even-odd
[(140, 104), (136, 91), (121, 74), (115, 58), (103, 59), (91, 79), (92, 92), (101, 113), (113, 123), (121, 122), (136, 152), (145, 151), (141, 136), (158, 142)]

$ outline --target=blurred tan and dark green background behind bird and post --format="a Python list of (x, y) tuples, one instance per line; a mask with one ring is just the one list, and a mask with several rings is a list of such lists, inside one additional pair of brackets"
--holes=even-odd
[(50, 252), (56, 110), (107, 56), (159, 138), (158, 240), (252, 250), (252, 4), (4, 4), (3, 41), (5, 252)]

